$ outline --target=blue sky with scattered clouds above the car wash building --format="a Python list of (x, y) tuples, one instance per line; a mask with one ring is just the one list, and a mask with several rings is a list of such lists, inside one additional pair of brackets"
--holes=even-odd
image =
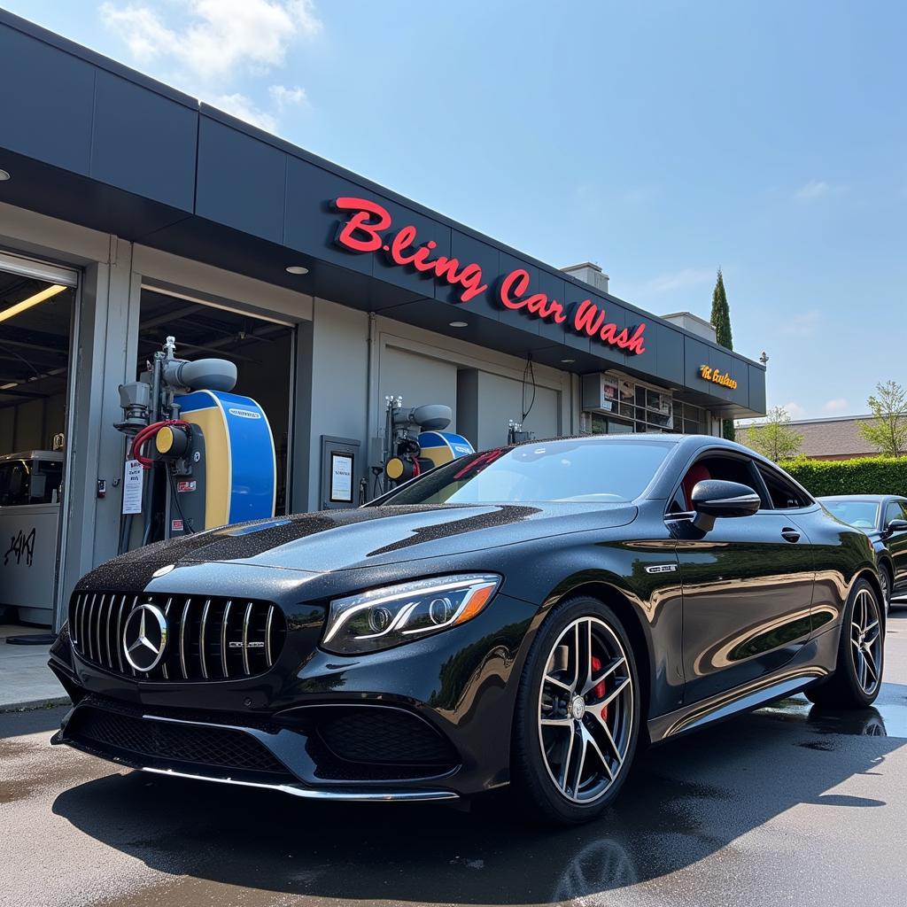
[(651, 311), (720, 266), (795, 418), (907, 384), (907, 5), (5, 6)]

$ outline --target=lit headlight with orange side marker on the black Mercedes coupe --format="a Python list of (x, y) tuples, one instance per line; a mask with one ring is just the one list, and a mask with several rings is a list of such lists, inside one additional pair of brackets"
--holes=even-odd
[(338, 655), (389, 649), (472, 620), (501, 577), (483, 573), (385, 586), (331, 602), (321, 648)]

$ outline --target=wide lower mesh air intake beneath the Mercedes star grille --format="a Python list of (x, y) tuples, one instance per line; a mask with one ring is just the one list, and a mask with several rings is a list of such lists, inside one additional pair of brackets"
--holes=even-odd
[(66, 736), (104, 756), (141, 766), (205, 766), (295, 780), (268, 748), (242, 731), (155, 721), (121, 711), (79, 707)]

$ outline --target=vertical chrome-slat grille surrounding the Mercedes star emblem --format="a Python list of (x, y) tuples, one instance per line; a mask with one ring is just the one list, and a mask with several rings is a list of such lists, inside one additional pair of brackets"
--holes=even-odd
[[(149, 671), (132, 668), (123, 651), (123, 626), (140, 604), (155, 605), (167, 621), (163, 658)], [(236, 680), (263, 674), (274, 664), (287, 621), (269, 601), (76, 592), (69, 606), (69, 632), (79, 655), (124, 677)]]

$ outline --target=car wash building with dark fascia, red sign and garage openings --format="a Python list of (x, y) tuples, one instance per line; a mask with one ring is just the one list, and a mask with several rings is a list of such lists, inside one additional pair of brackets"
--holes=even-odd
[(168, 337), (235, 366), (278, 515), (373, 496), (389, 398), (449, 407), (476, 449), (765, 412), (764, 366), (701, 319), (642, 311), (594, 265), (529, 258), (3, 12), (0, 82), (0, 604), (23, 619), (59, 624), (122, 550), (119, 387)]

